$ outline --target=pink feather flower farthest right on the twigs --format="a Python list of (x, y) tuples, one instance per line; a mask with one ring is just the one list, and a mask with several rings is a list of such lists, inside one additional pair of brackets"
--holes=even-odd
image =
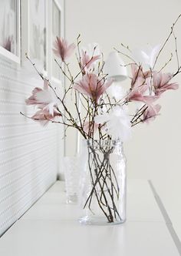
[(172, 74), (161, 72), (153, 72), (153, 86), (155, 88), (155, 95), (160, 96), (160, 94), (166, 92), (168, 89), (178, 89), (178, 83), (169, 83), (172, 79)]

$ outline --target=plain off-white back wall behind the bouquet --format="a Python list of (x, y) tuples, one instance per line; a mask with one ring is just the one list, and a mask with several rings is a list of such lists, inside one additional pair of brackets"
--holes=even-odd
[[(81, 34), (84, 45), (98, 42), (107, 56), (113, 47), (120, 49), (120, 42), (130, 48), (150, 43), (163, 43), (170, 26), (181, 12), (179, 0), (66, 0), (66, 38), (74, 42)], [(177, 30), (181, 42), (181, 20)], [(167, 57), (174, 45), (168, 46)], [(181, 62), (181, 47), (179, 47)], [(173, 52), (174, 53), (174, 52)], [(164, 59), (164, 62), (165, 60)], [(163, 63), (164, 63), (163, 62)], [(167, 67), (173, 72), (176, 62)], [(177, 77), (181, 86), (181, 76)], [(127, 83), (122, 84), (126, 86)], [(181, 238), (181, 88), (165, 93), (160, 99), (161, 116), (153, 123), (133, 129), (133, 138), (125, 143), (127, 171), (130, 178), (153, 181), (160, 194), (174, 227)], [(67, 155), (74, 155), (76, 134), (67, 134)], [(138, 206), (139, 207), (139, 206)]]

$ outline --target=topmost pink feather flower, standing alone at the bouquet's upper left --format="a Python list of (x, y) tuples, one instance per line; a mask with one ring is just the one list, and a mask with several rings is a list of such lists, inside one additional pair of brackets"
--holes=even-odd
[(71, 45), (67, 45), (67, 41), (65, 39), (58, 38), (54, 42), (54, 54), (56, 56), (61, 57), (61, 60), (64, 62), (71, 54), (74, 52), (75, 45), (72, 43)]

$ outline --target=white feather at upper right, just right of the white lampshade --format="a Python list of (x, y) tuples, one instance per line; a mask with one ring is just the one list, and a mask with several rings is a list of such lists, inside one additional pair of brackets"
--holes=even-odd
[(146, 45), (143, 49), (134, 49), (133, 50), (133, 58), (140, 62), (140, 64), (145, 64), (150, 69), (153, 69), (154, 63), (156, 61), (156, 56), (160, 51), (161, 45), (155, 45), (152, 47), (151, 45)]

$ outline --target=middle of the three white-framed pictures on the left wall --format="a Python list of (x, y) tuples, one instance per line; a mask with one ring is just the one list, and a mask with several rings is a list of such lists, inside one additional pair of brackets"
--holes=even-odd
[(31, 0), (29, 11), (29, 56), (47, 70), (46, 0)]

